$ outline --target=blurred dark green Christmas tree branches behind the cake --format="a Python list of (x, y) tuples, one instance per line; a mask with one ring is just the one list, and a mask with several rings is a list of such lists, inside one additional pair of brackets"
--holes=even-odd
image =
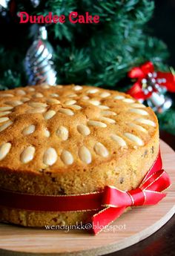
[[(66, 17), (70, 12), (99, 16), (99, 23), (48, 24), (48, 41), (54, 49), (57, 83), (94, 85), (126, 91), (131, 87), (128, 71), (148, 60), (157, 70), (168, 70), (166, 45), (151, 35), (147, 22), (154, 2), (123, 1), (7, 1), (0, 15), (0, 88), (27, 85), (24, 58), (33, 42), (32, 24), (19, 23), (18, 13), (46, 16), (49, 12)], [(35, 28), (35, 26), (33, 27)], [(159, 114), (162, 128), (175, 131), (175, 111)]]

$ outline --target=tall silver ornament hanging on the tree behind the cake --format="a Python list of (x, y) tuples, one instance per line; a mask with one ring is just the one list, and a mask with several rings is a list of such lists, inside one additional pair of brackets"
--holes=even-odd
[(47, 42), (46, 28), (39, 27), (39, 34), (27, 50), (25, 69), (29, 85), (47, 83), (56, 85), (56, 71), (53, 68), (53, 48)]

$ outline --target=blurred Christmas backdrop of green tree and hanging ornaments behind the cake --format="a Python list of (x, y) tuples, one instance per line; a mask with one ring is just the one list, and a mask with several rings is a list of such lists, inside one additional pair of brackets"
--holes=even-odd
[[(21, 11), (100, 22), (20, 24)], [(0, 90), (45, 82), (124, 91), (175, 134), (174, 27), (175, 0), (0, 0)]]

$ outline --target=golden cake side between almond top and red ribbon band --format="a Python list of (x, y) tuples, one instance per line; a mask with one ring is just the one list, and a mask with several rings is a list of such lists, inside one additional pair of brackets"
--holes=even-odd
[(81, 194), (99, 191), (105, 186), (130, 190), (139, 186), (159, 151), (159, 133), (139, 150), (128, 152), (107, 163), (70, 168), (67, 171), (0, 171), (0, 187), (29, 194)]

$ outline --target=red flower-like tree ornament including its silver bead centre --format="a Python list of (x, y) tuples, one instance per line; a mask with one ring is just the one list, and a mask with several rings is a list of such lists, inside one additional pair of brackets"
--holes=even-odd
[(152, 62), (132, 68), (128, 73), (131, 79), (137, 79), (128, 94), (135, 99), (149, 99), (153, 92), (158, 92), (159, 88), (166, 91), (175, 92), (175, 76), (173, 73), (155, 72)]

